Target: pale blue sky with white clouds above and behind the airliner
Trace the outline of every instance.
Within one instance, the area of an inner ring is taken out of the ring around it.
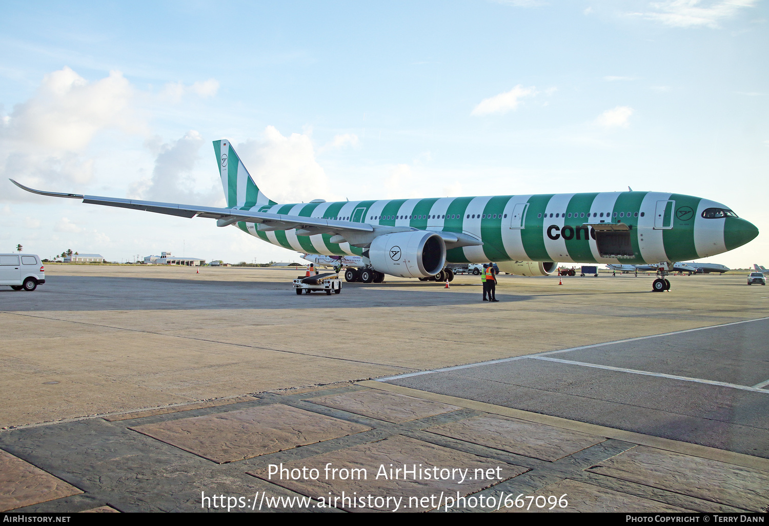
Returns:
[[[278,201],[675,191],[769,229],[765,0],[4,2],[0,171],[221,204],[211,141]],[[295,260],[212,221],[23,195],[0,250]],[[769,263],[766,234],[711,258]]]

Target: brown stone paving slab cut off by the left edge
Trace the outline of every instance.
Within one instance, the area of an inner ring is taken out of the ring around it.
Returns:
[[[0,450],[0,511],[82,493],[81,490]]]

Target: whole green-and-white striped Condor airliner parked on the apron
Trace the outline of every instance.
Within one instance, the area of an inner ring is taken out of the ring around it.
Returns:
[[[226,208],[40,191],[185,218],[216,219],[273,245],[361,256],[361,281],[385,274],[443,281],[449,263],[495,261],[501,271],[549,275],[556,262],[657,264],[653,291],[670,289],[674,261],[705,258],[758,235],[717,201],[657,191],[487,195],[278,204],[248,174],[230,141],[214,141]]]

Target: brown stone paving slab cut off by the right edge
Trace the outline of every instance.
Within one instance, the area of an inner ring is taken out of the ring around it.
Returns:
[[[751,511],[769,507],[769,472],[637,446],[588,469]]]

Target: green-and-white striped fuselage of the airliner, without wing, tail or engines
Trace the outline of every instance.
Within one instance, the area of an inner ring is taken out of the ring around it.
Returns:
[[[657,217],[657,227],[664,228],[655,228],[655,215],[658,216],[656,212],[660,211],[659,201],[673,201],[664,211],[666,217]],[[281,215],[460,232],[483,241],[481,246],[449,248],[447,261],[452,263],[512,260],[631,264],[704,258],[749,241],[741,234],[747,221],[737,217],[704,218],[703,211],[707,208],[727,207],[691,195],[652,191],[241,207]],[[523,221],[514,217],[514,211],[521,210]],[[664,225],[659,221],[663,221]],[[605,249],[603,254],[599,252],[595,231],[584,225],[604,222],[627,225],[630,250],[621,255],[609,254],[610,257],[604,257],[607,255]],[[295,229],[259,231],[255,223],[245,221],[237,225],[268,243],[295,251],[321,255],[364,255],[366,250],[345,242],[331,243],[329,234],[297,235]]]

